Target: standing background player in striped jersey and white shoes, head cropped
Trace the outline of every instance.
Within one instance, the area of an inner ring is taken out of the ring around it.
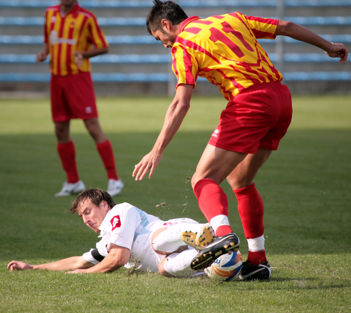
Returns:
[[[91,46],[94,48],[91,49]],[[69,122],[81,118],[107,171],[107,191],[118,195],[123,183],[118,179],[110,141],[101,130],[95,103],[89,58],[108,52],[108,44],[94,14],[83,9],[77,0],[61,0],[45,12],[44,50],[37,63],[50,54],[50,93],[52,119],[55,123],[57,150],[67,181],[55,196],[68,196],[85,189],[79,179],[74,144],[69,136]]]

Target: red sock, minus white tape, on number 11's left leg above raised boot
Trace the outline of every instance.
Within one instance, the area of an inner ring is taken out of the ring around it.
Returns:
[[[228,216],[228,198],[214,180],[200,179],[194,186],[194,193],[200,210],[208,222],[218,215]],[[216,236],[223,236],[230,232],[232,229],[229,225],[221,225],[216,230]]]

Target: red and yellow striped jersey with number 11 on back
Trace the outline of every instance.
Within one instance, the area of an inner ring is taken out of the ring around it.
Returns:
[[[172,47],[173,72],[179,84],[206,77],[228,101],[247,87],[281,81],[258,38],[275,39],[278,20],[239,12],[207,19],[192,16],[180,27]]]

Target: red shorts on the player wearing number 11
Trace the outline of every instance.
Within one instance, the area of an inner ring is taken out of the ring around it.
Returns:
[[[286,85],[269,82],[251,86],[227,104],[208,143],[243,153],[257,153],[258,148],[277,150],[291,116],[291,94]]]

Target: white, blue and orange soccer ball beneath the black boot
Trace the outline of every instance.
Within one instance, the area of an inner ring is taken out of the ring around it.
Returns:
[[[233,251],[231,254],[221,255],[204,271],[213,280],[229,281],[239,276],[242,266],[243,258],[238,250],[238,252]]]

